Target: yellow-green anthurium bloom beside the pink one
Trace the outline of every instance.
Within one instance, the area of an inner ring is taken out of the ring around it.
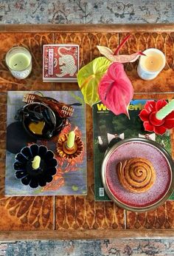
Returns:
[[[98,84],[102,75],[108,70],[111,61],[105,57],[95,58],[77,73],[77,82],[86,104],[92,106],[100,101]]]

